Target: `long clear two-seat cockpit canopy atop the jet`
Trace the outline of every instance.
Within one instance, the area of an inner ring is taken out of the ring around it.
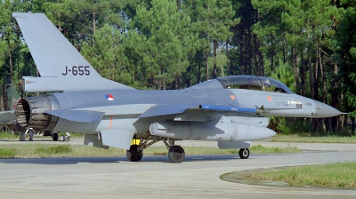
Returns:
[[[294,93],[279,81],[265,76],[224,76],[216,79],[224,89],[248,89],[264,92]]]

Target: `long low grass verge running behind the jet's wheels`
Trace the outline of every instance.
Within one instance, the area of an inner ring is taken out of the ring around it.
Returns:
[[[54,145],[54,144],[9,144],[0,146],[1,150],[12,150],[12,157],[57,157],[57,156],[125,156],[123,149],[109,147],[102,149],[98,147],[77,146],[77,145]],[[184,147],[187,155],[238,155],[237,149],[219,149],[217,147]],[[275,153],[298,153],[301,150],[297,147],[263,147],[261,145],[250,147],[252,154],[275,154]],[[166,147],[149,147],[144,150],[144,155],[167,155]],[[0,156],[1,158],[1,156]],[[3,157],[4,158],[4,157]],[[5,157],[10,158],[10,157]]]

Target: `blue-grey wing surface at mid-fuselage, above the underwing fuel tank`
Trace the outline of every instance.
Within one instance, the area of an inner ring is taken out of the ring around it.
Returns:
[[[150,107],[139,117],[150,117],[150,116],[159,116],[159,115],[174,115],[182,114],[189,108],[194,108],[194,106],[172,106],[172,105],[160,105],[156,107]]]

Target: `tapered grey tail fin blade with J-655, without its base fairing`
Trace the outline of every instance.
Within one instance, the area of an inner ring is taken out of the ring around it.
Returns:
[[[41,76],[100,76],[43,13],[13,12]]]

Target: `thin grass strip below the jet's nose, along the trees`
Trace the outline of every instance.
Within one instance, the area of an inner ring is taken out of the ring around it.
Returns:
[[[339,136],[326,136],[326,137],[304,137],[299,135],[277,135],[271,138],[274,142],[307,142],[307,143],[353,143],[356,144],[356,136],[352,137],[339,137]]]

